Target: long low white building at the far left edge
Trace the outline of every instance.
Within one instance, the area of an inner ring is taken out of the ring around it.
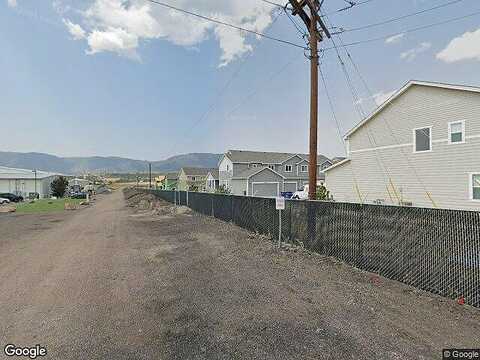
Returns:
[[[50,184],[58,176],[45,171],[0,166],[0,193],[12,193],[27,198],[36,192],[40,198],[46,198],[51,195]]]

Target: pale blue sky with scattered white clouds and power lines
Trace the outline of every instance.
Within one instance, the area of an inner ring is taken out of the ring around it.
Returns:
[[[303,28],[262,0],[164,2],[305,46]],[[371,0],[338,12],[344,0],[324,1],[327,25],[343,32],[321,43],[319,153],[344,155],[341,135],[411,79],[480,86],[477,0],[355,30],[450,2]],[[356,42],[350,61],[341,45]],[[0,151],[144,160],[308,152],[301,47],[146,0],[0,0],[0,49]]]

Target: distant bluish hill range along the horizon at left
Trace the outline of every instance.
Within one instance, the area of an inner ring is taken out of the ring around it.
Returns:
[[[166,160],[152,161],[152,171],[178,171],[181,167],[217,167],[221,154],[194,153],[177,155]],[[58,157],[42,153],[17,153],[0,151],[0,166],[38,169],[63,174],[88,172],[130,173],[146,172],[148,161],[121,157]]]

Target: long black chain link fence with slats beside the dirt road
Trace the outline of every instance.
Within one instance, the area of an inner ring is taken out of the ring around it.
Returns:
[[[149,190],[278,239],[275,199]],[[480,307],[480,212],[287,200],[285,242]]]

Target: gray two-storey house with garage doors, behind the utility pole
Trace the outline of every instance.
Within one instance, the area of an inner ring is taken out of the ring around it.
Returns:
[[[308,184],[308,164],[307,154],[229,150],[219,162],[219,184],[233,195],[278,196]],[[333,162],[318,155],[317,164],[322,183],[323,170]]]

